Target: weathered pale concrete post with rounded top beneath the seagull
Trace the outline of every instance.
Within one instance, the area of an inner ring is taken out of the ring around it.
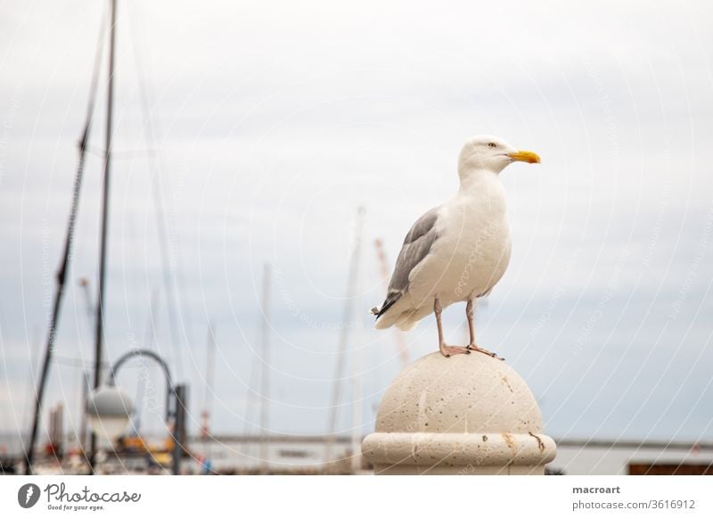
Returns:
[[[362,445],[375,474],[544,474],[555,449],[512,367],[481,353],[438,352],[391,383]]]

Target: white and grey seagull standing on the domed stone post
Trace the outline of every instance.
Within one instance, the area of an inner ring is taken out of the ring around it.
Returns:
[[[500,358],[475,343],[473,301],[493,290],[510,261],[510,226],[500,172],[516,161],[532,164],[540,158],[496,136],[466,141],[458,159],[458,193],[423,214],[408,231],[386,300],[371,310],[375,328],[396,325],[408,331],[433,312],[441,355],[479,351]],[[465,347],[449,346],[443,338],[441,313],[456,302],[466,303],[471,340]]]

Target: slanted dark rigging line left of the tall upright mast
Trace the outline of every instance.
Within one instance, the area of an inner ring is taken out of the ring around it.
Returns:
[[[70,205],[70,217],[67,222],[67,234],[64,240],[64,250],[60,260],[60,268],[56,275],[56,292],[54,294],[54,305],[52,317],[49,322],[47,333],[47,342],[45,348],[45,358],[42,362],[39,381],[37,383],[37,392],[35,393],[35,415],[30,430],[29,444],[24,446],[25,451],[25,474],[32,474],[33,448],[37,441],[37,429],[39,426],[40,415],[42,412],[42,400],[45,396],[45,385],[47,375],[49,375],[49,367],[52,361],[54,350],[54,342],[57,335],[57,322],[60,317],[61,302],[64,295],[64,286],[67,280],[67,272],[70,269],[72,243],[74,242],[74,232],[77,223],[77,214],[79,210],[79,195],[81,194],[82,178],[84,177],[84,167],[86,163],[86,150],[88,147],[89,134],[92,128],[92,120],[94,119],[94,106],[96,104],[96,95],[99,85],[99,70],[102,65],[102,51],[104,47],[104,39],[106,37],[106,12],[102,19],[102,24],[99,30],[99,41],[94,55],[94,70],[92,80],[89,86],[89,100],[86,106],[86,119],[82,136],[78,142],[79,158],[77,171],[74,177],[74,185],[72,186],[72,199]]]

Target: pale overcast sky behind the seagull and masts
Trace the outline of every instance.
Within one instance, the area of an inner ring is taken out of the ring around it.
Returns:
[[[5,431],[29,426],[107,4],[0,4]],[[324,433],[363,205],[358,312],[349,317],[363,420],[351,422],[345,381],[340,432],[372,430],[400,369],[393,335],[374,331],[367,315],[384,293],[373,240],[393,262],[414,218],[457,189],[463,141],[495,134],[542,164],[503,173],[512,262],[479,309],[480,344],[526,378],[552,436],[710,441],[712,17],[708,2],[119,0],[105,357],[137,344],[159,350],[190,384],[197,431],[211,320],[212,428],[257,431],[258,392],[249,390],[259,389],[269,262],[270,430]],[[68,406],[68,427],[78,420],[77,365],[93,358],[78,279],[90,280],[94,298],[103,87],[45,400]],[[461,306],[446,311],[456,342]],[[424,319],[406,334],[411,358],[436,339]],[[160,373],[151,368],[142,385],[139,364],[130,366],[119,384],[133,397],[158,394],[141,415],[146,430],[160,430]]]

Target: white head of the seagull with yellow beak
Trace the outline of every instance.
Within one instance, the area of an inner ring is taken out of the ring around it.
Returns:
[[[474,136],[463,144],[458,170],[463,174],[473,169],[485,169],[500,173],[512,162],[539,163],[537,153],[523,152],[513,148],[496,136]]]

